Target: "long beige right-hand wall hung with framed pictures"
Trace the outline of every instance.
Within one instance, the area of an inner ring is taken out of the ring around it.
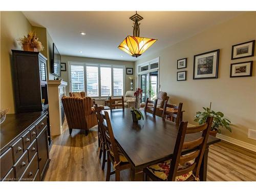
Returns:
[[[232,45],[253,39],[256,39],[256,12],[242,14],[140,59],[135,66],[160,57],[161,90],[168,93],[170,103],[183,102],[184,120],[195,124],[196,112],[211,101],[212,110],[223,112],[232,122],[232,133],[222,129],[223,135],[256,145],[256,140],[247,138],[248,129],[256,130],[256,57],[230,59]],[[193,80],[194,55],[216,49],[220,49],[218,79]],[[177,70],[177,59],[185,57],[187,68]],[[252,77],[229,77],[230,63],[250,60],[254,61]],[[183,70],[187,71],[187,80],[177,81],[177,71]]]

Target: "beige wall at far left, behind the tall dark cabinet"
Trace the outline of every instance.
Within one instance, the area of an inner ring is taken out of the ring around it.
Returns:
[[[22,12],[1,12],[1,109],[15,112],[12,82],[12,49],[19,49],[16,40],[27,35],[32,26]]]

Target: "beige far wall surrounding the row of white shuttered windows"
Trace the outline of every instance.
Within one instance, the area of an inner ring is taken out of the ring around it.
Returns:
[[[123,65],[123,66],[125,66],[125,72],[124,72],[124,74],[125,74],[125,90],[129,91],[131,88],[130,87],[131,80],[129,79],[129,76],[133,76],[133,75],[126,75],[126,68],[134,68],[133,61],[121,61],[121,60],[109,60],[109,59],[97,59],[97,58],[73,57],[73,56],[61,55],[61,62],[66,62],[67,71],[61,71],[60,78],[63,78],[63,80],[68,82],[68,87],[66,89],[67,94],[69,93],[68,61]]]

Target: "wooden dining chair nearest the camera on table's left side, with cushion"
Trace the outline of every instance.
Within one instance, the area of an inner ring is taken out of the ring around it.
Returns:
[[[107,170],[106,170],[106,181],[110,181],[110,176],[115,174],[116,181],[120,181],[120,171],[124,169],[131,168],[129,161],[121,152],[120,148],[117,146],[115,137],[112,130],[112,125],[110,122],[109,113],[104,111],[104,114],[100,112],[101,115],[101,127],[104,133],[106,151],[107,151]],[[111,163],[113,164],[115,170],[111,172]]]

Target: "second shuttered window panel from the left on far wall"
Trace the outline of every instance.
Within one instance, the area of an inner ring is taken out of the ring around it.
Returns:
[[[98,67],[86,66],[87,96],[99,96]]]

